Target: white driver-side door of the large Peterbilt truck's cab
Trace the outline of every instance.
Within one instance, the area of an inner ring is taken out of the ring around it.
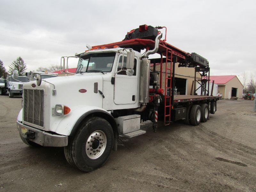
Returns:
[[[118,59],[118,67],[116,71],[119,71],[122,67],[121,55]],[[115,75],[114,85],[114,103],[115,104],[134,104],[138,100],[138,58],[134,58],[134,74],[132,76],[126,75],[126,71],[121,71]],[[124,66],[126,66],[126,56],[124,56]]]

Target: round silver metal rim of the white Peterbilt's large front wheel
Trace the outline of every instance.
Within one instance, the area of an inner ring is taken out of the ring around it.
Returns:
[[[105,151],[107,146],[107,137],[106,134],[102,131],[93,132],[87,139],[85,150],[86,155],[90,159],[99,158]]]

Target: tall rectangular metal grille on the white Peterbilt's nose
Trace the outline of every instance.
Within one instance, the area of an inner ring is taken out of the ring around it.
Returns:
[[[25,122],[44,127],[44,90],[23,90],[23,119]]]

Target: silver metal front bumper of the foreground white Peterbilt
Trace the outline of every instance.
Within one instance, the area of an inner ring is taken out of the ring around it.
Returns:
[[[68,145],[68,136],[65,135],[55,135],[44,132],[34,127],[25,125],[20,121],[17,121],[17,129],[23,138],[29,139],[45,147],[65,147]],[[26,130],[26,133],[29,134],[25,134],[25,132],[22,132],[21,130]],[[33,137],[31,137],[30,133],[33,134]]]

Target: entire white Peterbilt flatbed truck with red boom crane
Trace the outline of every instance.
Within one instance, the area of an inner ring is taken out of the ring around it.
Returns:
[[[219,100],[206,89],[209,63],[168,44],[166,28],[161,40],[158,29],[162,28],[142,25],[123,41],[86,45],[87,51],[71,56],[78,58],[74,76],[42,80],[39,74],[36,82],[24,84],[23,108],[17,118],[24,143],[64,147],[68,163],[89,172],[117,150],[119,137],[144,134],[141,121],[152,121],[154,132],[158,121],[164,125],[179,119],[192,125],[206,122]],[[143,49],[146,52],[141,54]],[[148,59],[154,53],[160,55],[160,63]],[[66,74],[68,58],[61,58]],[[200,72],[201,81],[195,78],[194,87],[200,83],[201,95],[196,90],[191,95],[172,94],[176,62]]]

